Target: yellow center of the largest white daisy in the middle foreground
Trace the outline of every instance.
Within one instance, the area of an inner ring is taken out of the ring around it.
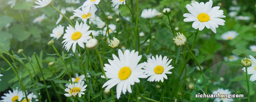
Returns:
[[[119,79],[121,80],[125,80],[127,79],[128,77],[130,77],[131,75],[131,69],[129,67],[123,67],[122,69],[119,70],[118,72],[118,77]]]

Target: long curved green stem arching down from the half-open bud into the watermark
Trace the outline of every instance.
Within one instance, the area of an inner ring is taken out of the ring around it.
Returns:
[[[196,60],[196,57],[193,55],[193,53],[191,52],[191,50],[188,48],[187,45],[185,45],[185,47],[188,49],[188,52],[190,53],[190,55],[194,58],[197,66],[199,67],[200,71],[201,71],[201,74],[202,74],[202,77],[203,77],[203,80],[204,80],[204,92],[205,94],[207,94],[207,84],[206,84],[206,79],[205,79],[205,76],[204,76],[204,72],[203,72],[203,69],[201,68],[201,65],[200,63]],[[207,98],[205,98],[204,100],[205,102],[207,101]]]

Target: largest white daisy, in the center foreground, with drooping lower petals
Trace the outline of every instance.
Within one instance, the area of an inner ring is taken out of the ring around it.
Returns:
[[[106,87],[106,90],[111,89],[113,86],[116,86],[116,97],[120,98],[121,92],[125,94],[126,91],[132,93],[131,85],[135,83],[139,83],[139,78],[147,78],[145,74],[143,74],[144,63],[139,63],[141,59],[141,55],[138,55],[139,52],[135,52],[132,50],[125,50],[124,54],[119,49],[118,56],[112,55],[114,60],[108,59],[109,64],[105,64],[104,70],[106,71],[106,76],[110,79],[105,84],[103,84],[102,88]],[[104,76],[101,76],[105,78]]]

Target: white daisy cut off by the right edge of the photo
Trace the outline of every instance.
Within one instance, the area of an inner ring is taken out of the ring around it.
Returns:
[[[253,82],[256,80],[256,59],[251,55],[249,55],[249,57],[251,58],[252,65],[251,67],[247,68],[247,72],[248,74],[252,74],[252,76],[250,77],[250,81]],[[244,70],[245,72],[245,67],[242,70]]]

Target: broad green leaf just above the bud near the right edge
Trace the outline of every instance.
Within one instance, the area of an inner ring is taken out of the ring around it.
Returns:
[[[246,55],[246,56],[249,56],[249,55],[252,55],[252,56],[256,56],[256,53],[254,51],[251,51],[251,50],[248,50],[246,48],[236,48],[232,51],[233,54],[235,55]]]

